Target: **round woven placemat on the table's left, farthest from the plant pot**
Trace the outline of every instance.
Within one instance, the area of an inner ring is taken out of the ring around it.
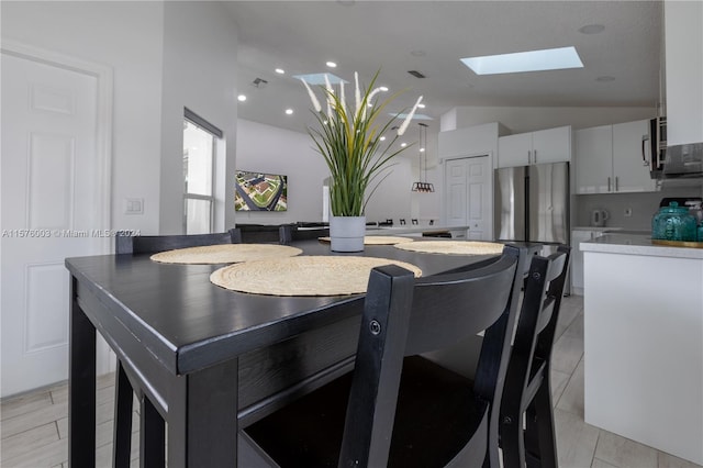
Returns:
[[[152,260],[163,264],[235,264],[294,257],[302,252],[300,248],[277,244],[220,244],[160,252],[152,255]]]

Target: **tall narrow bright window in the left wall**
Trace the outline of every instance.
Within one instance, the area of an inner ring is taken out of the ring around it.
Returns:
[[[212,232],[217,138],[222,138],[222,132],[217,127],[186,109],[183,120],[183,231],[186,234]]]

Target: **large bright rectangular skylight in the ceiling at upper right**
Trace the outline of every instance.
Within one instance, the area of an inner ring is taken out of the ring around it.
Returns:
[[[574,47],[546,48],[514,54],[467,57],[461,62],[477,75],[515,74],[523,71],[583,68]]]

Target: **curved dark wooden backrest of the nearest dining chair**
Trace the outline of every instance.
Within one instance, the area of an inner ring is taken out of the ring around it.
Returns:
[[[514,315],[517,259],[506,247],[480,268],[417,280],[397,266],[371,271],[339,466],[387,464],[404,356],[495,326],[511,309]]]

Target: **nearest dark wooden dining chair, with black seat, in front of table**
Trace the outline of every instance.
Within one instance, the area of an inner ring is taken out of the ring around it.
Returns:
[[[416,280],[397,266],[373,269],[354,370],[243,438],[271,466],[498,467],[490,410],[506,368],[518,253],[509,246],[478,268]],[[479,331],[487,338],[475,381],[420,356]]]

